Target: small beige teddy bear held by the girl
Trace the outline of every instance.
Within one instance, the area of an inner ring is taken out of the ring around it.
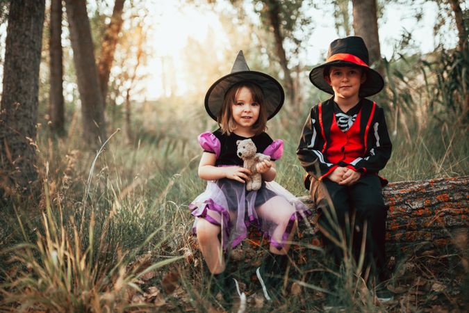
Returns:
[[[236,145],[238,146],[236,154],[244,161],[243,167],[252,172],[251,179],[246,184],[246,190],[252,191],[260,189],[262,177],[256,170],[256,164],[263,160],[270,160],[270,157],[262,153],[256,153],[256,145],[254,145],[251,139],[236,141]]]

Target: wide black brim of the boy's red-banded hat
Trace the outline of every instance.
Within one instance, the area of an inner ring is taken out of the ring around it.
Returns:
[[[384,88],[384,79],[381,77],[379,72],[373,70],[370,67],[357,65],[356,63],[336,60],[314,67],[313,70],[311,70],[309,73],[309,80],[311,83],[313,83],[313,85],[318,87],[320,90],[331,95],[334,95],[334,90],[332,90],[331,85],[329,85],[329,83],[327,83],[327,81],[324,79],[324,68],[328,66],[358,66],[363,68],[366,73],[366,80],[360,86],[360,97],[370,97],[372,95],[376,95]]]

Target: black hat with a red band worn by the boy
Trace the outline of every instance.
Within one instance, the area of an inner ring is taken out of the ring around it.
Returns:
[[[330,66],[359,66],[366,73],[366,81],[360,86],[360,97],[375,95],[383,89],[384,79],[368,65],[368,59],[368,49],[361,37],[336,39],[329,45],[326,63],[314,67],[309,73],[309,80],[320,90],[334,95],[334,90],[324,79],[324,69]]]

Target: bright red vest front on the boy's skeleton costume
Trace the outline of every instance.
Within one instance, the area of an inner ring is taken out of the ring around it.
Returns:
[[[344,161],[349,164],[356,158],[363,157],[365,145],[360,138],[360,118],[361,110],[356,115],[356,119],[349,130],[343,132],[337,125],[336,116],[332,115],[331,143],[324,155],[334,164]]]

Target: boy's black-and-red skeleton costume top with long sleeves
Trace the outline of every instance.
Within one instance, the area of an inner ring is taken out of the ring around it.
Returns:
[[[311,109],[297,150],[303,168],[318,180],[327,177],[338,166],[377,175],[386,166],[392,148],[383,109],[375,102],[361,99],[352,108],[358,109],[357,113],[345,118],[345,113],[334,114],[335,106],[337,104],[331,98]],[[358,140],[347,142],[347,136],[336,136],[334,125],[345,134],[355,126]],[[331,156],[335,162],[329,159]],[[386,179],[381,177],[381,185],[386,184]]]

